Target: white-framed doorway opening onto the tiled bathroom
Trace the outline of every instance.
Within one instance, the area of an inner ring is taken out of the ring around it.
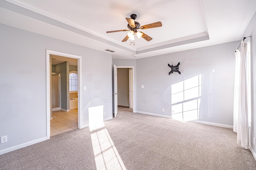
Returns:
[[[81,57],[46,50],[47,69],[47,139],[59,133],[81,129],[80,100]],[[70,72],[76,72],[75,87],[70,91]],[[75,90],[74,90],[75,88]],[[71,96],[71,98],[70,98]],[[75,97],[74,97],[75,96]],[[70,108],[70,102],[76,106]]]

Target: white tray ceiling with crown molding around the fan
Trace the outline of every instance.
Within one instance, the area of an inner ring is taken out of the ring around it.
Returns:
[[[99,51],[139,59],[237,41],[256,12],[256,0],[0,0],[0,23]],[[151,41],[121,42],[131,14]],[[104,51],[106,52],[106,51]],[[106,52],[110,53],[110,52]],[[132,56],[137,54],[136,57]]]

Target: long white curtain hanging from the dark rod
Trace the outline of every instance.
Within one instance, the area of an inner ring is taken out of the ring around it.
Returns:
[[[241,42],[241,53],[236,50],[236,67],[234,83],[234,132],[237,133],[237,143],[248,149],[249,127],[247,107],[247,84],[246,84],[246,53],[247,46]]]

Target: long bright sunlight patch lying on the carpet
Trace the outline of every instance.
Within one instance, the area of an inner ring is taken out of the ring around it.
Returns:
[[[91,140],[97,170],[126,170],[107,129],[92,133]]]

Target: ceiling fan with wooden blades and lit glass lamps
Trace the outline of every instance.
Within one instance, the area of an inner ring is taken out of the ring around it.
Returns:
[[[145,33],[141,31],[137,31],[137,29],[149,29],[149,28],[155,28],[155,27],[162,27],[162,23],[160,21],[155,22],[155,23],[150,23],[147,25],[142,25],[140,26],[140,23],[137,21],[134,21],[137,18],[136,14],[132,14],[131,18],[125,18],[128,22],[128,29],[121,29],[121,30],[116,30],[116,31],[107,31],[106,33],[114,33],[114,32],[120,32],[120,31],[129,31],[122,40],[122,42],[127,41],[128,39],[134,40],[135,39],[135,34],[137,35],[138,38],[142,37],[146,41],[151,41],[152,38]]]

